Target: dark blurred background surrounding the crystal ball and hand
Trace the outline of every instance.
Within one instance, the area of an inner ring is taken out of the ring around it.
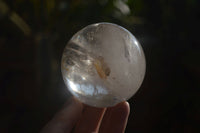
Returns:
[[[112,22],[147,61],[127,133],[200,132],[199,0],[0,0],[0,132],[36,133],[70,97],[60,71],[74,33]]]

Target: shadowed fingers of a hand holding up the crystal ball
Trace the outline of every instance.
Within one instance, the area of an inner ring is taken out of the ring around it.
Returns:
[[[71,98],[41,133],[123,133],[129,112],[126,101],[114,107],[95,108]]]

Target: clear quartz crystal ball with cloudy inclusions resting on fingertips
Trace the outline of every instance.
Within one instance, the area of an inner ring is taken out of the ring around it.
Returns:
[[[137,39],[112,23],[89,25],[66,45],[61,70],[69,91],[95,107],[114,106],[133,96],[145,75]]]

